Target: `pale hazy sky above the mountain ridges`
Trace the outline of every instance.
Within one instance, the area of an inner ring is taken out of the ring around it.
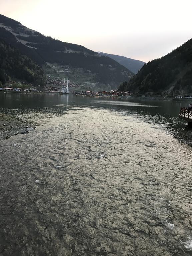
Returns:
[[[91,50],[142,61],[192,38],[191,0],[0,0],[0,13]]]

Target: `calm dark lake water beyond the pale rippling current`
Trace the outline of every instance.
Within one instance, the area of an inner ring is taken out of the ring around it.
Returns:
[[[0,93],[0,111],[9,114],[28,114],[31,112],[50,113],[55,116],[66,113],[72,106],[108,108],[122,112],[124,115],[132,115],[145,122],[156,123],[168,132],[177,132],[184,128],[186,122],[178,118],[180,107],[188,105],[188,102],[154,101],[140,99],[117,99],[80,97],[64,94],[22,94]],[[43,118],[44,116],[42,116]]]

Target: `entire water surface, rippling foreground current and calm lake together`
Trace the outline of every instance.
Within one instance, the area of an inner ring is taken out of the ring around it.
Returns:
[[[183,105],[0,94],[41,124],[0,143],[0,255],[192,255]]]

